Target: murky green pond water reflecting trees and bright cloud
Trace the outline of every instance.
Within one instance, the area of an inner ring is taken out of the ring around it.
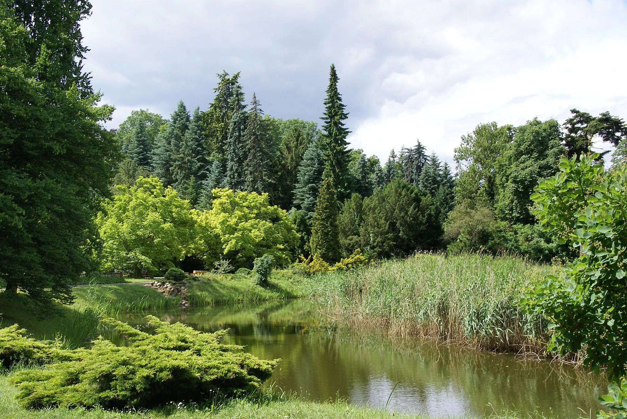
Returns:
[[[346,398],[403,413],[482,416],[503,410],[588,417],[607,382],[570,366],[477,352],[435,340],[349,331],[303,300],[149,313],[201,331],[228,328],[223,343],[281,358],[270,382],[311,400]],[[122,314],[130,324],[145,314]]]

